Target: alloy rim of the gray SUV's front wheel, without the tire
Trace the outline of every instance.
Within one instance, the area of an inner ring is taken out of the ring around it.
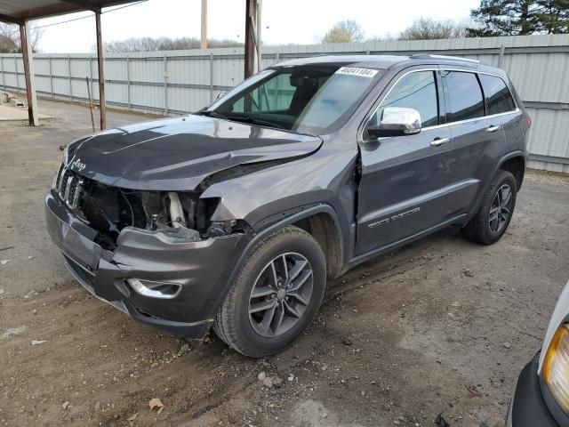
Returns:
[[[302,318],[312,296],[314,275],[301,254],[279,254],[255,280],[249,296],[249,322],[264,337],[290,330]]]

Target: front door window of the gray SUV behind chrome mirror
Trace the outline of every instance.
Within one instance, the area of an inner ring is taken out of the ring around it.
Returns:
[[[386,107],[416,109],[421,115],[421,126],[438,125],[437,84],[433,71],[416,71],[397,82],[372,118],[374,124],[381,122]]]

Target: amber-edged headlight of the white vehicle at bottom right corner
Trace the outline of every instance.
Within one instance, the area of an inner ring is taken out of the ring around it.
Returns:
[[[545,353],[543,382],[565,414],[569,414],[569,326],[559,326]]]

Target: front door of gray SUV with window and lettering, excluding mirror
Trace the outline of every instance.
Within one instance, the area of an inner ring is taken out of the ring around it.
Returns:
[[[362,176],[357,199],[356,255],[395,244],[445,222],[450,211],[451,133],[441,125],[442,88],[436,70],[400,77],[370,120],[386,107],[416,109],[421,133],[362,142]],[[440,100],[440,101],[439,101]]]

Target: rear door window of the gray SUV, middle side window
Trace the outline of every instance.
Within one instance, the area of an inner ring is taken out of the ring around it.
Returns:
[[[484,101],[476,74],[443,71],[448,89],[446,121],[448,123],[484,117]]]

